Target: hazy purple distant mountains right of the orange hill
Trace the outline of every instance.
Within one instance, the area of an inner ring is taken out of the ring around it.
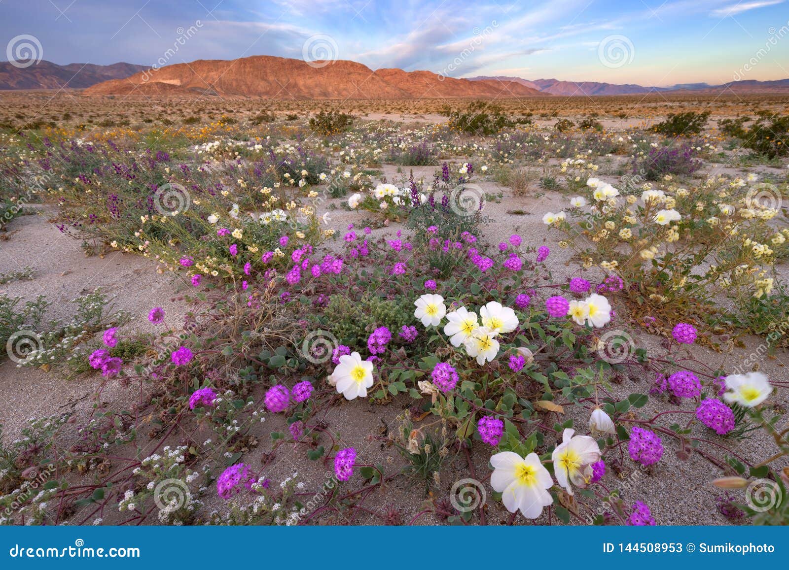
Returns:
[[[734,91],[738,93],[789,93],[789,79],[775,81],[732,81],[721,85],[706,83],[677,84],[671,87],[644,87],[635,84],[611,84],[597,81],[560,81],[558,79],[526,80],[521,77],[508,76],[477,76],[472,81],[513,81],[542,93],[571,97],[574,95],[630,95],[634,93],[651,93],[655,91],[697,91],[699,93],[720,93]]]

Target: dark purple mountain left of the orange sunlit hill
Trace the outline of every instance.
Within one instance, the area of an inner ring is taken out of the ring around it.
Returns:
[[[131,63],[58,65],[46,60],[38,63],[22,60],[19,63],[31,65],[22,68],[9,61],[0,61],[0,89],[81,89],[110,79],[123,79],[148,69],[147,65]]]

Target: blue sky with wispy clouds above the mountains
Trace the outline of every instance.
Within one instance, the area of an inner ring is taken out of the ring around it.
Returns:
[[[789,0],[0,0],[0,58],[19,35],[59,64],[328,54],[449,76],[789,78]]]

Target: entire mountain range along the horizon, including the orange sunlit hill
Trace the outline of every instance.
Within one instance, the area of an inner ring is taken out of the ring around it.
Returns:
[[[22,64],[29,63],[26,61]],[[695,93],[787,93],[789,79],[734,81],[721,85],[644,87],[597,81],[526,80],[512,76],[455,79],[429,71],[376,69],[355,61],[302,61],[257,55],[234,60],[198,60],[149,69],[115,63],[24,67],[0,61],[2,89],[85,89],[85,95],[241,96],[266,99],[418,99],[630,95],[654,91]]]

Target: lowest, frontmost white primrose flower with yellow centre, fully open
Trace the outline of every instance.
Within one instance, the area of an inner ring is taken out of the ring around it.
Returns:
[[[503,451],[491,457],[491,465],[491,486],[502,494],[501,501],[509,512],[520,509],[527,519],[536,519],[543,507],[553,503],[548,493],[553,479],[537,453],[529,453],[524,458],[518,453]]]

